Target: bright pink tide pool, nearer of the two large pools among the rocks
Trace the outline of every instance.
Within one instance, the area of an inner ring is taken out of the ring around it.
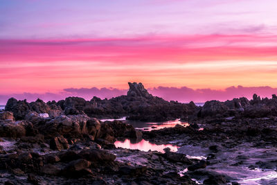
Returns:
[[[135,141],[130,141],[129,139],[125,139],[125,141],[116,141],[114,143],[114,145],[116,147],[120,147],[120,148],[127,148],[127,149],[138,149],[138,150],[143,150],[145,152],[148,152],[149,150],[156,150],[158,152],[163,152],[164,148],[170,148],[170,151],[172,152],[177,152],[178,147],[177,146],[172,146],[170,144],[168,145],[157,145],[154,143],[150,143],[149,141],[145,141],[144,139],[142,139],[139,142],[135,142]]]

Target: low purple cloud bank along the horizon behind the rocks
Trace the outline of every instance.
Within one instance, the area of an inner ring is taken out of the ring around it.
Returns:
[[[240,98],[242,96],[251,99],[253,94],[258,94],[259,96],[265,98],[271,98],[272,94],[277,94],[277,88],[265,86],[265,87],[227,87],[223,90],[215,89],[191,89],[189,87],[154,87],[148,89],[150,94],[154,96],[159,96],[165,100],[178,100],[182,103],[188,103],[193,100],[195,103],[203,103],[207,100],[231,100],[233,98]],[[117,89],[117,88],[68,88],[64,89],[60,93],[45,93],[45,94],[3,94],[0,95],[0,104],[5,105],[8,98],[14,97],[18,100],[27,99],[28,101],[34,101],[40,98],[44,101],[48,100],[62,100],[68,96],[78,96],[86,100],[90,100],[93,96],[99,98],[112,98],[116,96],[121,96],[127,94],[127,89]]]

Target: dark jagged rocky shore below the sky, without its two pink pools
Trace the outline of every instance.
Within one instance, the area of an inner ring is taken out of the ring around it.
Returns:
[[[277,182],[275,95],[213,100],[197,107],[154,97],[141,84],[129,87],[127,96],[110,100],[69,97],[57,103],[27,103],[10,98],[0,112],[0,182],[253,183],[246,173],[260,177],[270,173],[262,184]],[[141,121],[182,118],[190,125],[141,132],[122,121],[98,119],[119,116]],[[180,148],[178,152],[116,148],[114,142],[122,139],[174,143]]]

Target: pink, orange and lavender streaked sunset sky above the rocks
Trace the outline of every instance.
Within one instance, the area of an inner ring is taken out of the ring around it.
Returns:
[[[276,94],[276,7],[276,0],[1,0],[0,103],[112,97],[125,94],[127,82],[181,101],[226,100],[229,88],[240,89],[233,96]],[[100,93],[66,91],[93,88]]]

